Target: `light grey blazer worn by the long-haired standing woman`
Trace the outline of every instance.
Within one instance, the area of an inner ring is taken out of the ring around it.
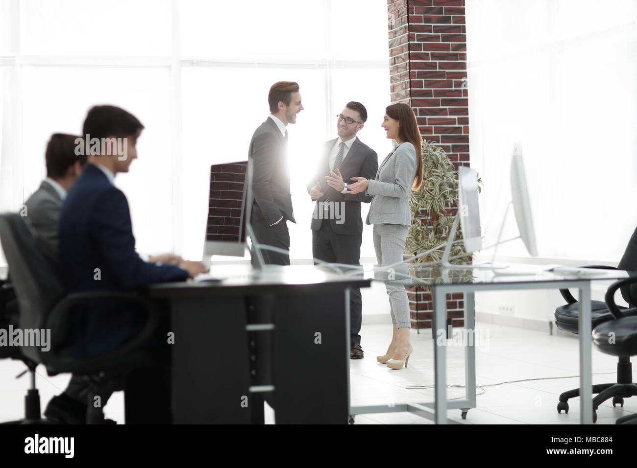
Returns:
[[[409,195],[416,177],[416,150],[403,141],[378,167],[375,180],[369,181],[367,195],[373,195],[366,223],[412,225]]]

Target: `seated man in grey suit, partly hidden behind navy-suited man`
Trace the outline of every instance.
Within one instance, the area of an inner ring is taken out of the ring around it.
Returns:
[[[62,201],[82,173],[86,155],[75,154],[75,135],[56,133],[48,141],[47,178],[25,203],[25,215],[38,233],[42,252],[57,266],[57,223]],[[82,152],[83,153],[83,152]]]

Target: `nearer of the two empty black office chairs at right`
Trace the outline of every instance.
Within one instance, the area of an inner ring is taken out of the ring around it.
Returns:
[[[606,305],[613,315],[613,319],[601,323],[593,329],[592,333],[593,343],[599,351],[618,356],[620,361],[623,358],[627,362],[630,362],[630,356],[637,355],[637,316],[627,316],[626,310],[620,309],[615,304],[615,291],[619,288],[631,287],[634,283],[637,283],[637,274],[634,278],[617,281],[608,288]],[[619,364],[617,364],[617,368],[619,374]],[[632,375],[626,376],[623,382],[618,381],[615,385],[606,388],[598,397],[603,397],[606,394],[624,397],[637,395],[637,385],[631,381]],[[593,422],[597,420],[596,409],[601,403],[601,401],[596,401],[598,397],[593,399]],[[623,416],[617,420],[617,424],[637,424],[637,415]]]

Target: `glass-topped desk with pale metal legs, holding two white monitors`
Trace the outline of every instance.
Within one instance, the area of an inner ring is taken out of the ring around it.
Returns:
[[[441,269],[439,272],[423,274],[432,288],[433,295],[433,328],[436,331],[434,339],[434,402],[418,402],[413,404],[396,404],[393,408],[387,406],[354,406],[350,407],[350,415],[363,413],[385,413],[389,411],[409,411],[437,424],[453,422],[447,419],[447,409],[461,409],[462,418],[467,411],[476,408],[476,371],[475,371],[475,341],[465,345],[464,375],[465,399],[447,401],[447,294],[462,292],[464,294],[464,325],[463,329],[475,330],[475,301],[476,291],[494,290],[524,290],[524,289],[563,289],[576,288],[580,291],[580,422],[592,423],[592,371],[590,363],[591,350],[591,316],[590,316],[590,281],[618,280],[627,278],[626,271],[595,270],[589,271],[587,277],[575,274],[554,274],[542,269],[520,269],[511,266],[499,273],[488,270],[469,268],[473,278],[459,281],[453,278],[454,271]],[[404,280],[403,280],[404,282]],[[407,282],[408,285],[412,281]],[[557,404],[557,402],[556,402]]]

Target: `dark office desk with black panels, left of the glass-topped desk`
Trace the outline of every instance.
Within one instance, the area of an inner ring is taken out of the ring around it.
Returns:
[[[261,395],[273,390],[276,423],[347,423],[347,288],[369,285],[325,267],[241,266],[220,283],[148,287],[150,297],[170,303],[174,422],[262,422]],[[273,306],[272,323],[250,323],[263,297]],[[254,379],[255,333],[273,337],[269,385]]]

